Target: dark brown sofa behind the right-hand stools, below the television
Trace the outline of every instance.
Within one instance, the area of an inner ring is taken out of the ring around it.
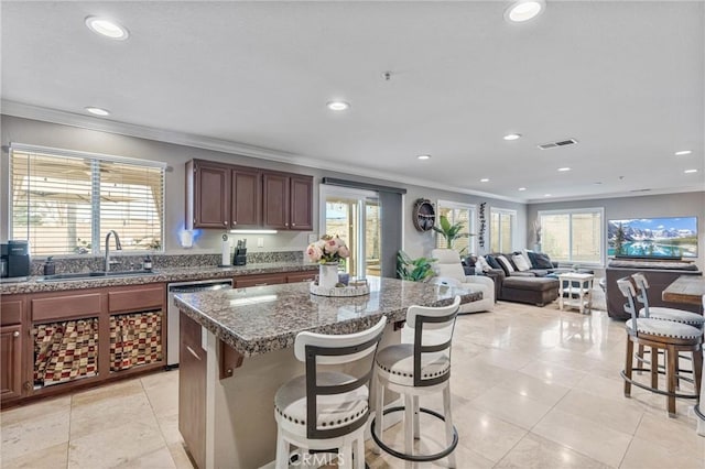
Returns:
[[[629,314],[625,313],[626,299],[617,286],[617,280],[637,272],[643,273],[649,282],[649,306],[665,306],[693,313],[703,312],[698,305],[669,303],[661,299],[663,290],[679,276],[703,274],[695,264],[690,262],[616,259],[607,264],[605,271],[605,299],[607,302],[607,314],[610,317],[615,319],[630,318]]]

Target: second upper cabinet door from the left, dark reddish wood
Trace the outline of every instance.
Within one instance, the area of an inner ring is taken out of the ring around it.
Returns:
[[[236,168],[232,170],[230,181],[230,228],[259,228],[262,225],[262,173]]]

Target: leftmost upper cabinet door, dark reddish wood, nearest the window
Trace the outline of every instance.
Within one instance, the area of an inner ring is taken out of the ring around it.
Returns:
[[[194,170],[193,204],[194,227],[227,228],[230,215],[230,170],[197,163]]]

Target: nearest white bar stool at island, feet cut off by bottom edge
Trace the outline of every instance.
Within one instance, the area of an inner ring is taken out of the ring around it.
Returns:
[[[382,317],[361,332],[296,336],[294,355],[305,363],[306,374],[283,384],[274,396],[276,469],[289,467],[290,445],[314,452],[337,450],[338,467],[355,462],[356,468],[365,468],[369,385],[386,324],[387,317]],[[343,364],[345,372],[338,371]],[[308,465],[305,459],[296,465],[302,462]],[[314,462],[321,466],[325,461]]]

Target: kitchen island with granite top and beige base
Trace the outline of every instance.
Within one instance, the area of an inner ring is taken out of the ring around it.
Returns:
[[[400,341],[411,305],[443,306],[456,295],[463,303],[481,298],[465,287],[394,279],[369,279],[369,284],[368,295],[354,297],[312,295],[306,283],[176,296],[187,325],[181,340],[180,430],[200,468],[256,468],[274,459],[274,393],[304,373],[293,353],[299,332],[356,332],[383,315],[383,347]]]

